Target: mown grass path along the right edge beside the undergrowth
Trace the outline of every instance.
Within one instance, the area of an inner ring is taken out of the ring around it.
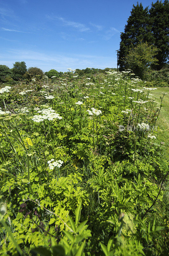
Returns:
[[[160,97],[163,97],[162,92],[166,92],[168,94],[166,94],[163,98],[163,107],[161,108],[156,123],[159,129],[162,130],[158,132],[157,141],[158,143],[161,141],[165,142],[165,149],[167,152],[169,152],[169,87],[158,87],[158,90],[154,90],[152,94],[158,97],[155,101],[158,103],[158,106],[160,106]]]

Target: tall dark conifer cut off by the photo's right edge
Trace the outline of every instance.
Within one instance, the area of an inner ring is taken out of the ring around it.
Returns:
[[[150,20],[152,29],[151,32],[155,38],[155,46],[158,48],[157,64],[153,65],[154,69],[161,69],[166,61],[169,59],[169,2],[165,0],[164,3],[157,1],[151,4]]]

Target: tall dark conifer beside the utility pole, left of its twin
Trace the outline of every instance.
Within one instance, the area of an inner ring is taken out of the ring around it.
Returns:
[[[125,68],[124,58],[128,54],[130,48],[134,48],[140,42],[153,44],[154,38],[151,33],[148,7],[144,9],[143,5],[138,4],[137,2],[136,6],[133,4],[131,15],[127,20],[127,25],[125,25],[124,32],[121,33],[118,61],[120,70]]]

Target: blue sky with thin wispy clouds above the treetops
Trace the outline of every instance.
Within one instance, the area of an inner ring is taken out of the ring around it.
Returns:
[[[138,1],[140,3],[140,1]],[[152,0],[141,1],[151,7]],[[156,1],[153,1],[156,2]],[[0,64],[115,68],[120,32],[137,0],[0,0]]]

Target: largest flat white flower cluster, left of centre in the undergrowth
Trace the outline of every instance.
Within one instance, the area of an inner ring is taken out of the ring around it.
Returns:
[[[39,110],[38,113],[41,113],[42,115],[34,115],[32,117],[32,120],[37,123],[43,122],[45,119],[48,119],[49,121],[52,121],[54,118],[59,120],[62,119],[62,117],[59,116],[59,114],[56,114],[55,110],[52,108]]]

